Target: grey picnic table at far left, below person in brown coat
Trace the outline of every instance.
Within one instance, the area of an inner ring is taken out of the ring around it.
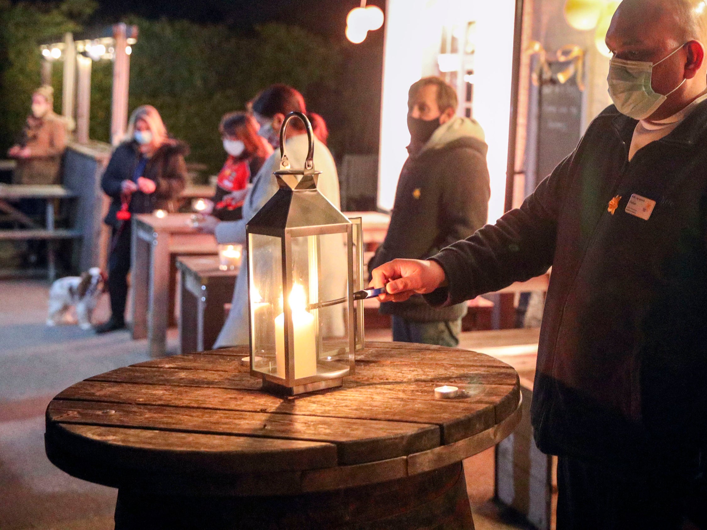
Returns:
[[[0,230],[0,240],[46,240],[47,241],[47,276],[54,281],[57,276],[56,257],[54,255],[55,240],[71,240],[81,237],[80,230],[55,228],[54,201],[57,199],[73,199],[74,192],[58,184],[0,184],[0,211],[24,228]],[[15,208],[11,203],[21,199],[42,199],[47,201],[46,220],[42,226],[29,216]]]

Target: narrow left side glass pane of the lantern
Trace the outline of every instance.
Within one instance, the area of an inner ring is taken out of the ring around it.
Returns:
[[[258,372],[278,375],[275,317],[282,312],[282,240],[249,234],[248,245],[251,365]]]

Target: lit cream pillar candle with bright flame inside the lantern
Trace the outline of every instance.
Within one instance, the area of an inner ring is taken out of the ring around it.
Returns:
[[[295,356],[295,379],[317,375],[317,347],[315,319],[307,311],[307,296],[302,285],[295,284],[288,297],[292,314],[294,343],[291,353]],[[285,314],[275,317],[275,361],[278,377],[285,377]]]

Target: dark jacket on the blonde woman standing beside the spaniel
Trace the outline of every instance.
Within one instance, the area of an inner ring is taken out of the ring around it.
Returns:
[[[130,197],[128,210],[131,213],[151,213],[161,208],[176,211],[177,199],[185,188],[187,165],[184,157],[189,153],[186,143],[169,139],[147,161],[142,174],[156,184],[155,192],[144,194],[139,190]],[[124,180],[132,180],[140,158],[136,141],[121,143],[110,157],[108,167],[103,172],[100,184],[103,192],[110,196],[112,202],[105,217],[105,223],[112,227],[119,226],[120,221],[115,213],[120,209]]]

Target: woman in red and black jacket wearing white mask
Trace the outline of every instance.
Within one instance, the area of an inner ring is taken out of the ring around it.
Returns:
[[[220,220],[239,220],[247,185],[272,154],[272,147],[262,136],[255,118],[245,112],[230,112],[221,118],[218,131],[223,149],[228,153],[226,163],[218,173],[214,204],[223,201],[224,207],[214,211]]]

